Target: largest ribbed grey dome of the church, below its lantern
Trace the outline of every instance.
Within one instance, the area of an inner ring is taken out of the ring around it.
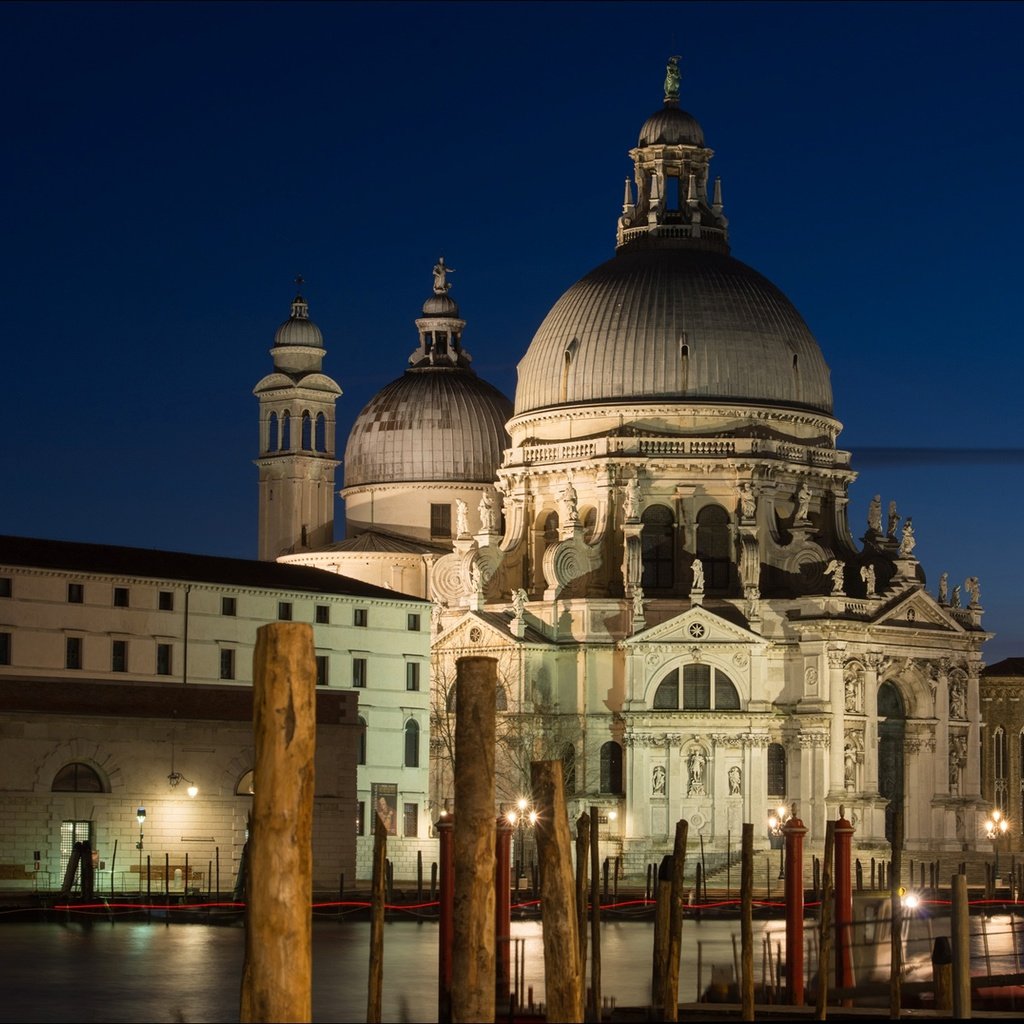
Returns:
[[[650,239],[555,303],[519,364],[515,412],[663,399],[833,408],[821,350],[771,282],[724,253]]]

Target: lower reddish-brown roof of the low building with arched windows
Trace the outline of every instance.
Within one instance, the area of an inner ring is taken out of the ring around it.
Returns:
[[[175,718],[179,721],[251,722],[251,686],[204,686],[126,680],[0,679],[0,711],[32,715],[100,715]],[[350,690],[316,690],[321,725],[355,723],[358,696]]]

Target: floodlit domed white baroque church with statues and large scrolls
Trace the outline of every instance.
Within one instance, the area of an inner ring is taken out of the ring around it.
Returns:
[[[828,368],[731,255],[675,63],[630,156],[615,253],[540,326],[511,411],[469,369],[441,262],[410,368],[349,437],[346,540],[285,557],[433,601],[435,813],[456,665],[482,655],[499,800],[561,759],[570,814],[599,807],[627,870],[680,817],[712,850],[745,821],[767,846],[794,804],[811,840],[842,806],[883,850],[902,809],[909,850],[974,849],[978,582],[930,592],[894,502],[851,515]]]

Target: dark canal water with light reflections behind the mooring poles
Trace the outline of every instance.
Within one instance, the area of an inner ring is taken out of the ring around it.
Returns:
[[[1020,970],[1019,925],[1019,918],[972,918],[973,973]],[[810,966],[817,956],[813,923],[807,926]],[[771,977],[769,956],[784,949],[784,923],[756,921],[754,929],[760,982]],[[888,936],[872,937],[866,926],[857,926],[857,933],[859,964],[878,951],[887,976]],[[905,933],[907,980],[931,977],[932,943],[939,934],[948,935],[948,918],[921,919]],[[524,995],[532,989],[535,1000],[543,1001],[540,923],[513,922],[512,940],[521,950]],[[369,942],[368,923],[314,923],[314,1021],[366,1020]],[[618,1006],[649,1001],[652,942],[649,922],[602,923],[602,992]],[[238,1021],[244,944],[244,930],[229,926],[101,920],[2,925],[0,1021]],[[713,971],[716,980],[731,981],[738,944],[736,920],[687,920],[680,1001],[694,1001]],[[395,1022],[437,1020],[436,923],[385,926],[382,1015]]]

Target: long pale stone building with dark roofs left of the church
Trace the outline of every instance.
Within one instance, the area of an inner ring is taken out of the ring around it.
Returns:
[[[206,888],[219,855],[230,888],[256,631],[278,620],[313,627],[315,884],[355,881],[372,845],[356,834],[382,799],[403,877],[430,845],[428,616],[422,600],[305,566],[0,538],[0,884],[54,884],[69,841],[88,838],[117,872],[104,886],[137,885],[142,806],[161,870],[188,854]]]

